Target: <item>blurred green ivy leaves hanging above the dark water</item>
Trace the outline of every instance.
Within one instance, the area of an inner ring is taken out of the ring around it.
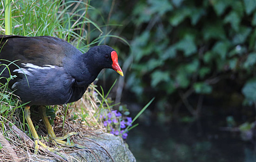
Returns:
[[[125,88],[139,101],[155,95],[170,108],[179,100],[169,99],[186,92],[198,96],[218,90],[225,93],[218,83],[236,76],[232,81],[244,86],[246,100],[254,102],[254,85],[246,81],[255,77],[256,70],[255,0],[132,0],[121,4],[113,15],[118,15],[114,20],[124,27],[116,32],[131,40],[129,55],[133,56]],[[110,8],[110,3],[106,5],[105,9]],[[237,87],[233,90],[241,93]]]

